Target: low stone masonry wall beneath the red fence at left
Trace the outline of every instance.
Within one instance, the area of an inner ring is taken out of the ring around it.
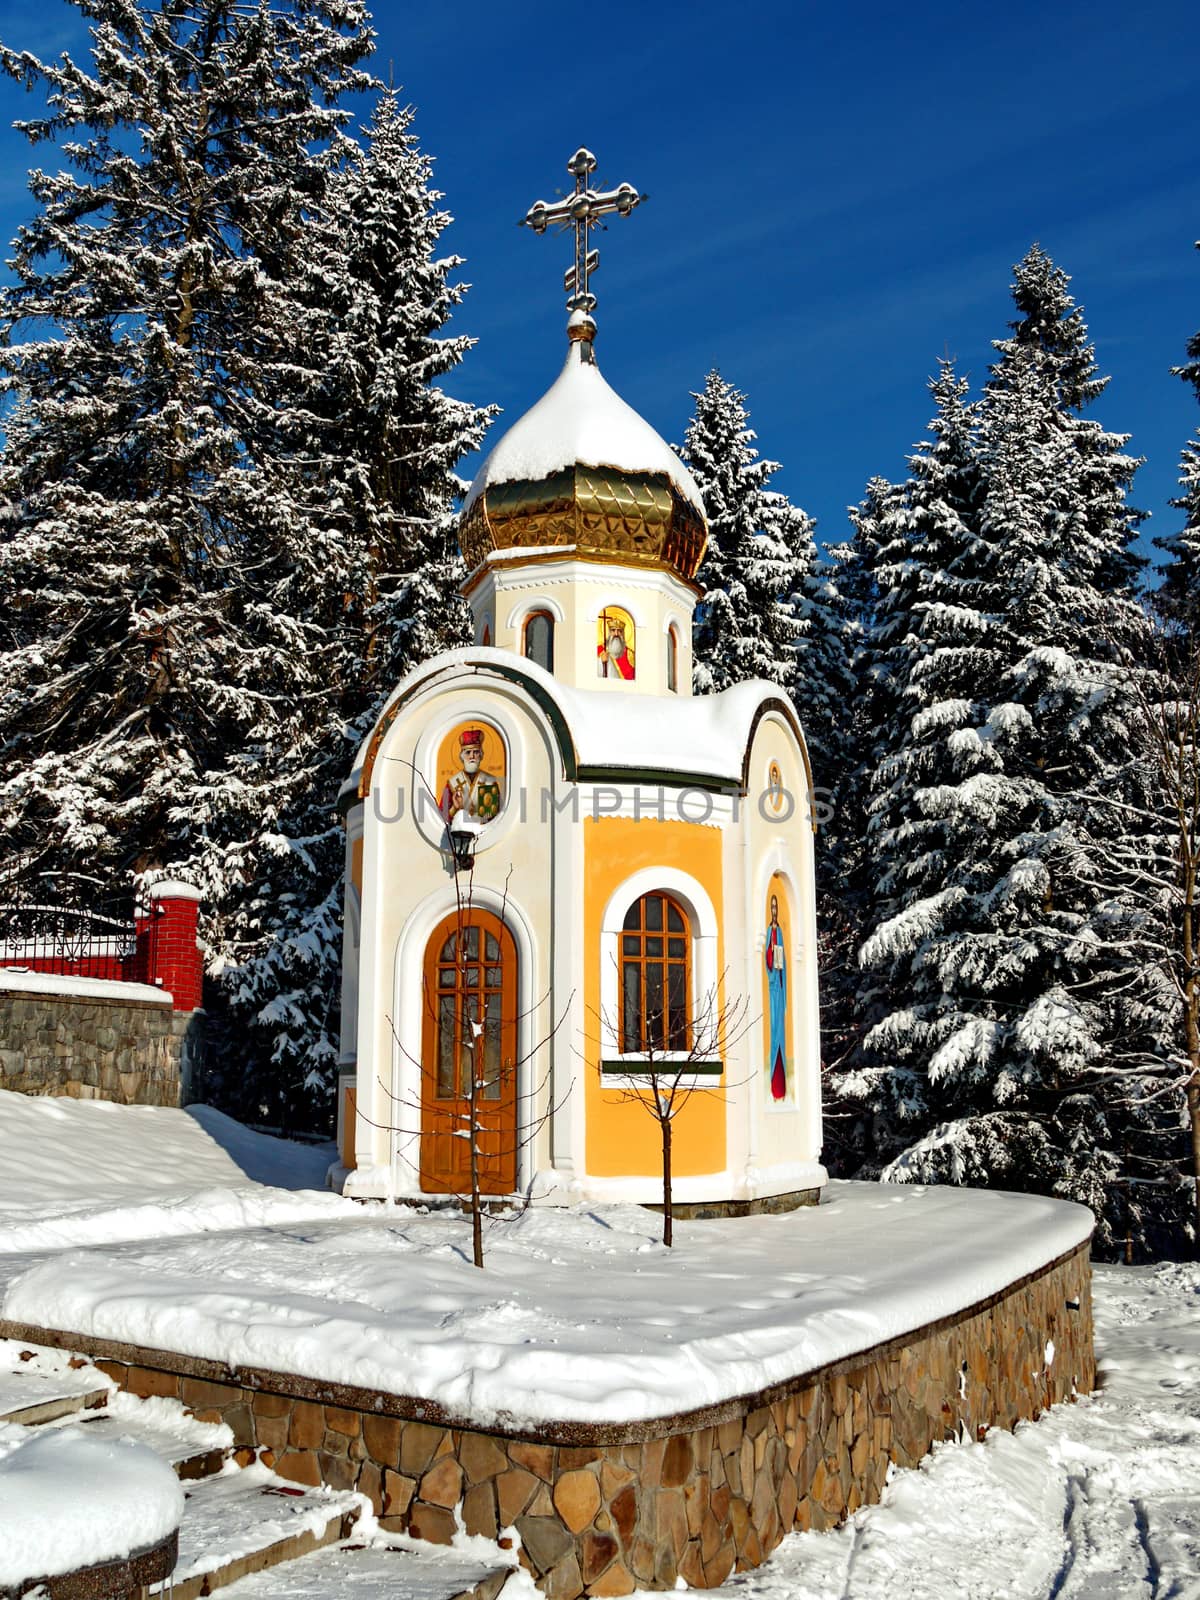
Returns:
[[[202,1021],[170,1003],[0,987],[0,1090],[179,1106]]]

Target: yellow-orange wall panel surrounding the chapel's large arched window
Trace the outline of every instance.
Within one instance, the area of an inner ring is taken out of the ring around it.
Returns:
[[[600,925],[610,899],[632,874],[646,867],[675,867],[704,886],[723,923],[722,830],[694,822],[656,818],[584,819],[584,1107],[586,1163],[595,1178],[656,1178],[662,1173],[662,1142],[656,1118],[600,1082]],[[725,1003],[725,938],[718,936],[718,1005]],[[672,1170],[694,1178],[725,1170],[725,1094],[701,1088],[678,1114],[672,1139]]]

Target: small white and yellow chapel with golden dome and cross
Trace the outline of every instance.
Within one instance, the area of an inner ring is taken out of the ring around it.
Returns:
[[[459,542],[475,645],[400,682],[342,790],[338,1141],[347,1195],[677,1208],[814,1203],[811,770],[768,682],[691,690],[707,523],[595,357],[574,229],[565,365],[480,467]],[[474,1104],[472,1104],[474,1099]],[[472,1136],[474,1130],[474,1136]]]

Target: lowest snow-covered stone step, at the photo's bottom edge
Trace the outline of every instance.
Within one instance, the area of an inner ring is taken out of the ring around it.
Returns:
[[[440,1546],[338,1546],[242,1578],[226,1600],[496,1600],[510,1566]]]

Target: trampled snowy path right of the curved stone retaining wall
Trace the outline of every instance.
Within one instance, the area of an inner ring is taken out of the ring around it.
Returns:
[[[1098,1267],[1104,1387],[947,1445],[726,1600],[1200,1600],[1200,1267]]]

